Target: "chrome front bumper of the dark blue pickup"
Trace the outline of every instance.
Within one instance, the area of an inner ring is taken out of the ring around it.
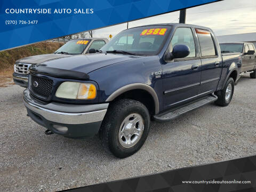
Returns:
[[[67,105],[51,102],[43,105],[30,97],[28,89],[23,92],[23,102],[29,110],[41,115],[47,121],[70,125],[100,122],[108,108],[108,103]]]

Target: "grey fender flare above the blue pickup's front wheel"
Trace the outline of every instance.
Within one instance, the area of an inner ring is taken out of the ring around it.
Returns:
[[[134,84],[125,85],[125,86],[119,88],[118,90],[116,90],[114,93],[112,93],[106,99],[106,101],[107,102],[108,101],[113,101],[115,98],[117,98],[122,93],[124,93],[126,91],[135,90],[135,89],[145,90],[145,91],[147,91],[151,95],[151,97],[154,99],[154,102],[155,102],[155,114],[158,114],[159,113],[159,101],[158,101],[157,94],[156,94],[155,90],[151,86],[146,85],[146,84],[134,83]]]

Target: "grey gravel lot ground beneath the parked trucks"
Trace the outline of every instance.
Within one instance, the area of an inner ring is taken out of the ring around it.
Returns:
[[[56,191],[256,154],[256,79],[241,78],[228,107],[206,105],[151,122],[131,157],[107,154],[98,137],[45,135],[26,116],[17,85],[0,88],[0,190]]]

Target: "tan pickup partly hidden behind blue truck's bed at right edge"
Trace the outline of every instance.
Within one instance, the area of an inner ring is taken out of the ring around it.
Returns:
[[[250,74],[251,78],[256,78],[256,53],[253,43],[220,43],[220,49],[222,53],[241,53],[242,66],[240,70],[240,75]]]

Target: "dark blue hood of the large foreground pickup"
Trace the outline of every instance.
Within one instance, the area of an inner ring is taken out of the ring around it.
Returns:
[[[70,71],[70,73],[76,72],[89,74],[93,70],[136,58],[140,58],[140,56],[113,53],[74,55],[73,57],[47,60],[40,64],[31,66],[30,70],[50,76],[55,76],[55,74],[60,70],[66,71],[65,73]],[[45,73],[46,71],[47,73]]]

